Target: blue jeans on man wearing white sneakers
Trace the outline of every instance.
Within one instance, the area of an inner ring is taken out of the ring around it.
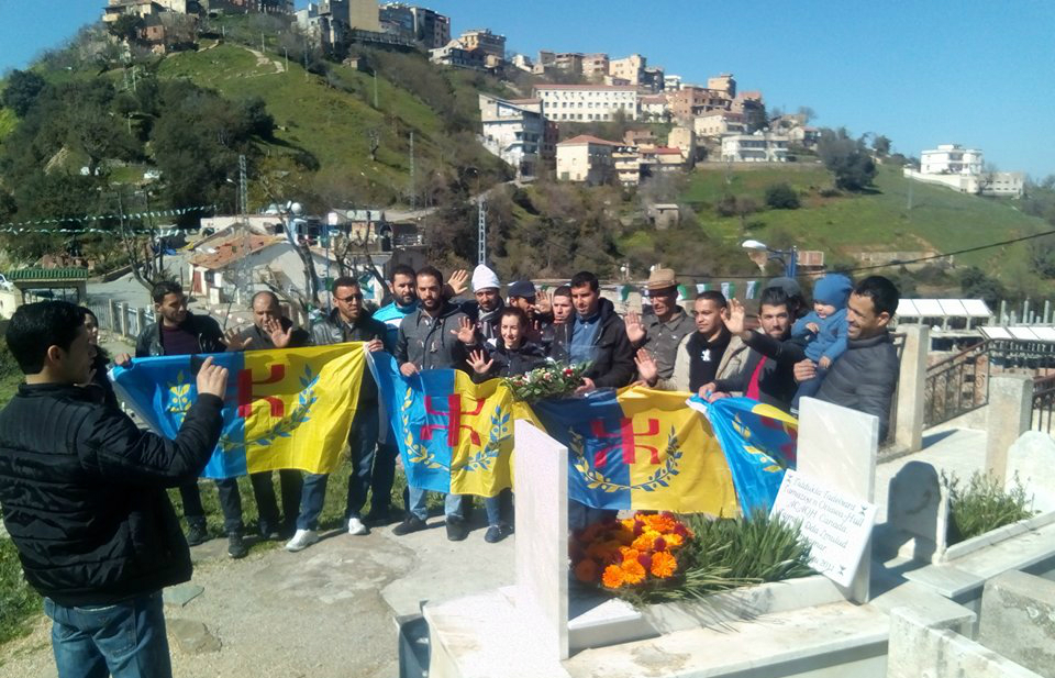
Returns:
[[[362,518],[359,512],[366,503],[370,489],[370,476],[374,471],[374,454],[377,449],[377,405],[360,408],[352,422],[348,433],[352,475],[348,476],[348,500],[344,518]],[[304,487],[300,498],[300,515],[297,516],[298,530],[319,527],[319,514],[326,500],[327,474],[304,474]],[[391,491],[391,490],[389,490]]]

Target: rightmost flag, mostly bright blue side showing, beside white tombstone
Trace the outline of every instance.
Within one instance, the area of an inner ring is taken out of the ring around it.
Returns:
[[[711,422],[733,474],[745,514],[769,512],[784,474],[795,468],[798,421],[781,410],[751,398],[689,399],[690,408]]]

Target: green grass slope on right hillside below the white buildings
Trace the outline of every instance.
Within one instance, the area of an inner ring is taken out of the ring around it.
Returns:
[[[719,218],[713,205],[726,192],[749,196],[765,205],[767,186],[786,181],[803,194],[798,210],[765,210],[747,218],[747,235],[780,244],[852,257],[868,251],[951,252],[1010,240],[1051,229],[1043,220],[1021,213],[1012,200],[980,198],[952,189],[910,181],[897,168],[880,167],[876,191],[824,198],[820,189],[831,176],[820,165],[757,170],[701,169],[692,174],[681,199],[697,208],[704,227],[735,240],[744,234],[740,220]],[[909,194],[911,192],[911,210]],[[1026,259],[1018,244],[956,257],[989,273],[1018,275]]]

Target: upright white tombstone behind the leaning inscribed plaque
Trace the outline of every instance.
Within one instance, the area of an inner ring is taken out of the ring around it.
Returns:
[[[857,501],[875,502],[879,419],[871,414],[803,398],[799,403],[799,447],[796,469],[803,476],[839,489]],[[843,593],[868,602],[871,547]],[[841,587],[842,588],[842,587]]]

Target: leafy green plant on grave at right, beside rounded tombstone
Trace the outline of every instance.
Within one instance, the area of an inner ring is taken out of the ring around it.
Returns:
[[[989,474],[975,471],[966,486],[955,474],[942,473],[942,485],[948,488],[949,544],[956,544],[1025,520],[1036,514],[1033,497],[1014,478],[1010,490]]]

